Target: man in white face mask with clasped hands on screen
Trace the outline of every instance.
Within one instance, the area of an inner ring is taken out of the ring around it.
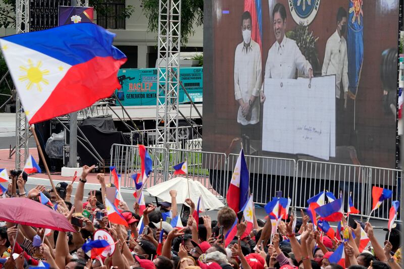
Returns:
[[[241,125],[243,143],[259,133],[260,88],[261,88],[261,48],[251,39],[251,14],[245,11],[241,16],[241,34],[243,41],[234,53],[234,95],[240,105],[237,122]],[[249,142],[247,142],[249,143]],[[244,145],[248,154],[249,146]]]

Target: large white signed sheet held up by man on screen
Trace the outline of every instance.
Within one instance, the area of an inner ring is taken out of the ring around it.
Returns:
[[[335,76],[264,83],[262,149],[335,157]]]

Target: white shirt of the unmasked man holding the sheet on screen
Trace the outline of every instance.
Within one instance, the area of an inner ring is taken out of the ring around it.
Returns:
[[[296,78],[296,69],[308,77],[311,68],[296,41],[284,36],[280,44],[275,41],[268,51],[265,78]]]

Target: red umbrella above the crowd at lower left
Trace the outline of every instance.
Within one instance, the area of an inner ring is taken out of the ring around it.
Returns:
[[[63,214],[28,198],[0,199],[0,220],[62,232],[76,232]]]

